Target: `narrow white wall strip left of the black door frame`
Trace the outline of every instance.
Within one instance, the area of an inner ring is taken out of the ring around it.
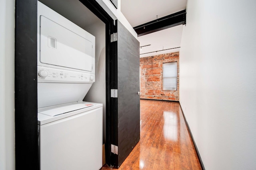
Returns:
[[[0,170],[15,169],[14,0],[0,0]]]

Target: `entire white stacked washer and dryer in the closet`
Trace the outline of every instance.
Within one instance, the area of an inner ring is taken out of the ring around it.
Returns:
[[[95,37],[38,1],[40,170],[102,167],[102,104],[83,102],[95,82]]]

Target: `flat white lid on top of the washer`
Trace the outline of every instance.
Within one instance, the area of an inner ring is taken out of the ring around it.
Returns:
[[[39,113],[53,117],[56,115],[61,115],[64,113],[68,113],[70,111],[75,111],[75,110],[83,109],[83,108],[90,107],[90,106],[94,106],[94,104],[74,104],[74,105],[70,105],[70,106],[58,107],[55,109],[41,111]]]

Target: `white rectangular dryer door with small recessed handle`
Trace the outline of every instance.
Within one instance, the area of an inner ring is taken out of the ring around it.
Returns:
[[[40,16],[40,63],[91,72],[92,50],[88,39]]]

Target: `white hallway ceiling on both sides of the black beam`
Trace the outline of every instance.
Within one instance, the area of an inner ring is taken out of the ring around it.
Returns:
[[[156,20],[156,16],[157,18],[162,18],[175,12],[185,10],[186,4],[187,0],[121,0],[121,12],[132,27],[136,27],[149,21]],[[140,54],[148,54],[140,55],[140,57],[179,51],[179,48],[166,51],[159,50],[180,47],[182,28],[182,25],[178,25],[138,37],[140,46],[151,44],[150,46],[142,47]],[[152,51],[158,52],[149,53]]]

